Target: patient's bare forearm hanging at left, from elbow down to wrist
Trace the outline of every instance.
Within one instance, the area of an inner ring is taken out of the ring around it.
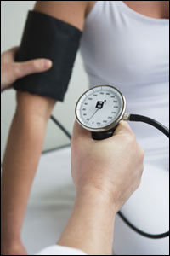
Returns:
[[[20,240],[31,183],[37,170],[47,122],[31,115],[15,114],[3,160],[2,239]]]

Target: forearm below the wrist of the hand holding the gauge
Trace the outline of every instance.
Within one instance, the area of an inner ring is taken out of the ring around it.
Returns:
[[[81,192],[58,244],[89,255],[112,254],[115,215],[107,195],[95,189]]]

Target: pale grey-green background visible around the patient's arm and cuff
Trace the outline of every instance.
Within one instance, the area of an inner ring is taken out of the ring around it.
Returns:
[[[15,45],[20,45],[20,39],[29,9],[33,9],[36,1],[1,1],[1,52]],[[82,57],[78,53],[75,67],[71,76],[69,90],[65,102],[58,102],[53,114],[71,132],[75,120],[74,108],[77,98],[88,89],[88,77],[84,71]],[[15,91],[7,90],[1,95],[1,160],[8,138],[8,130],[15,109]],[[48,131],[43,150],[57,148],[70,143],[62,131],[49,120]]]

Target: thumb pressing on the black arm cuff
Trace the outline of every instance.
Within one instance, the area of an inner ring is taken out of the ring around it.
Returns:
[[[17,79],[25,77],[31,73],[41,73],[52,67],[52,61],[48,59],[37,59],[25,62],[15,62],[15,70],[17,70]]]

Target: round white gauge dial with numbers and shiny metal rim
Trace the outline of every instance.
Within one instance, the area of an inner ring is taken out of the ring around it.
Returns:
[[[122,93],[111,85],[87,90],[76,106],[77,121],[89,131],[107,131],[116,126],[125,111]]]

